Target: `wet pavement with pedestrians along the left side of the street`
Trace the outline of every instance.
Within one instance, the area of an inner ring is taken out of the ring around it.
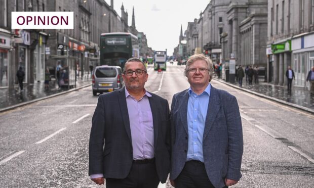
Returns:
[[[57,81],[52,78],[49,82],[49,88],[45,88],[44,82],[36,82],[33,84],[24,84],[23,90],[20,91],[18,84],[14,88],[0,88],[0,112],[11,110],[23,105],[27,105],[43,99],[63,95],[73,90],[90,86],[92,79],[90,74],[76,78],[76,87],[59,88]]]

